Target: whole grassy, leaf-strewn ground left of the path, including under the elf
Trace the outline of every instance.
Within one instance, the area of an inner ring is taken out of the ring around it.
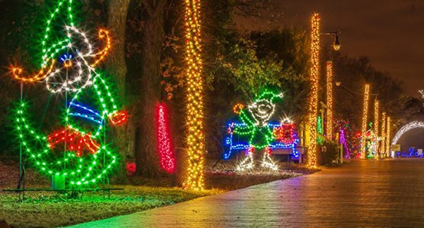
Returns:
[[[16,188],[18,169],[16,164],[1,164],[0,189]],[[208,167],[212,167],[208,165]],[[82,222],[102,220],[127,215],[142,210],[172,205],[201,196],[245,188],[269,181],[288,179],[316,170],[305,169],[298,164],[281,164],[280,172],[234,172],[235,161],[221,162],[206,171],[206,188],[194,192],[170,187],[172,176],[158,179],[131,177],[124,191],[111,191],[110,198],[100,192],[86,192],[82,198],[70,199],[54,192],[26,192],[25,200],[18,202],[18,193],[0,192],[0,221],[6,220],[12,227],[63,227]],[[49,180],[29,169],[27,188],[49,188]]]

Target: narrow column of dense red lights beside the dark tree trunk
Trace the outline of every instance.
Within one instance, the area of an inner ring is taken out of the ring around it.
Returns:
[[[163,103],[156,107],[156,121],[160,167],[171,174],[175,169],[175,155],[171,147],[169,115]]]

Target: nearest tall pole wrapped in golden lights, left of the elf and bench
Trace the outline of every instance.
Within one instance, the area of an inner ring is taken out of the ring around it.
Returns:
[[[201,61],[200,0],[185,0],[186,64],[187,64],[187,149],[188,176],[184,186],[192,190],[204,188],[204,88]]]

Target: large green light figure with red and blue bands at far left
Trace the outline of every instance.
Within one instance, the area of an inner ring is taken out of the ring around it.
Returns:
[[[16,129],[23,152],[42,173],[63,176],[71,188],[80,188],[95,184],[114,167],[117,156],[100,136],[105,136],[107,125],[126,121],[127,114],[118,110],[110,86],[94,68],[111,47],[109,33],[100,29],[98,38],[105,41],[105,47],[94,52],[90,37],[73,23],[72,2],[57,1],[57,8],[47,17],[40,71],[23,76],[23,69],[15,67],[12,73],[22,83],[43,80],[49,92],[65,93],[66,114],[59,130],[47,136],[38,132],[30,124],[28,104],[22,99],[16,112]],[[56,28],[65,31],[56,33]],[[86,99],[88,90],[95,94],[90,101]],[[84,102],[93,103],[99,111]]]

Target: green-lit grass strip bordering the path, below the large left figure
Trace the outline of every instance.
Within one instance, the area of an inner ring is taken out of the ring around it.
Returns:
[[[124,191],[112,191],[110,198],[107,194],[103,197],[101,192],[84,193],[81,199],[69,199],[48,192],[27,192],[22,203],[18,202],[17,193],[1,193],[0,220],[6,220],[13,227],[61,227],[127,215],[218,193],[149,186],[113,187],[124,188]]]

